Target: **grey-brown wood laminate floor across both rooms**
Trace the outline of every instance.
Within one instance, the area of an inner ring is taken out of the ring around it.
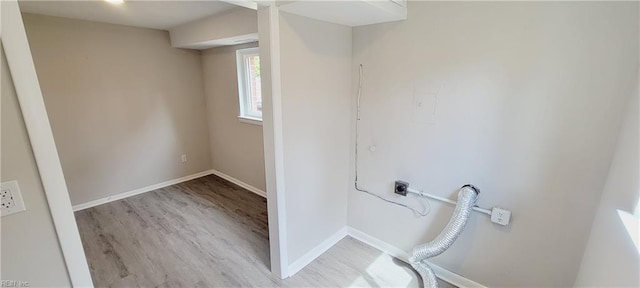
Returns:
[[[82,210],[76,221],[96,287],[418,287],[420,281],[406,263],[350,237],[293,277],[275,277],[266,200],[216,176]]]

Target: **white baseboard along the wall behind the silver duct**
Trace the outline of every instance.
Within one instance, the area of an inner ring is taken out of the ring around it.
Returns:
[[[358,229],[352,228],[352,227],[348,227],[347,228],[347,233],[349,234],[349,236],[360,240],[366,244],[368,244],[371,247],[374,247],[382,252],[385,252],[395,258],[398,258],[399,260],[402,260],[406,263],[408,262],[409,259],[409,253],[407,253],[406,251],[395,247],[387,242],[384,242],[378,238],[375,238],[367,233],[364,233]],[[438,265],[435,265],[433,263],[429,263],[429,266],[431,267],[431,269],[433,269],[433,272],[436,273],[436,276],[438,276],[438,278],[440,278],[443,281],[449,282],[455,286],[458,287],[480,287],[480,288],[486,288],[484,285],[477,283],[473,280],[467,279],[465,277],[462,277],[456,273],[453,273],[447,269],[444,269]]]

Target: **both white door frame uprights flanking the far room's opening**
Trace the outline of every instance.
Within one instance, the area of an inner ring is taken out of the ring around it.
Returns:
[[[56,229],[71,283],[75,287],[93,287],[80,233],[73,214],[67,185],[56,149],[49,117],[38,82],[20,8],[16,0],[2,0],[0,38],[9,70],[31,140],[42,185]],[[271,272],[289,277],[285,213],[284,146],[282,97],[280,86],[280,15],[273,1],[259,2],[258,30],[263,79],[263,141]]]

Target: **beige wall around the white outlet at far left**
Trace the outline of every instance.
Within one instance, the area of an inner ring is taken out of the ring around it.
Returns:
[[[1,57],[0,175],[2,182],[18,181],[27,210],[4,216],[0,221],[0,274],[2,280],[27,281],[31,287],[68,287],[71,282],[4,52]]]

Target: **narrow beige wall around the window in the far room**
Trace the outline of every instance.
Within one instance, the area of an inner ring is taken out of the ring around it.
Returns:
[[[265,188],[262,126],[240,122],[236,50],[257,43],[202,51],[202,75],[213,169],[262,191]]]

